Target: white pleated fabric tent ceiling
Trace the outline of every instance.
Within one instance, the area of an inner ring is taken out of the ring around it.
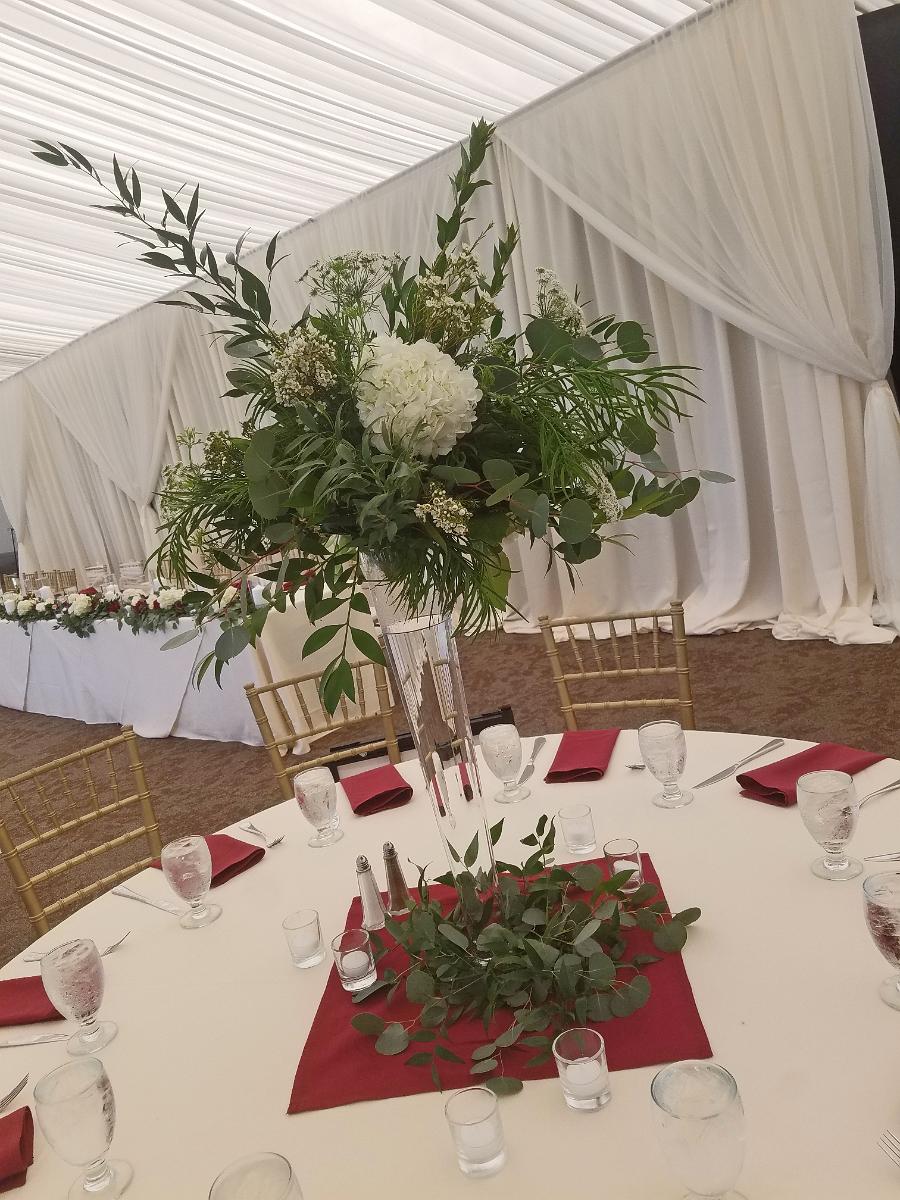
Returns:
[[[199,180],[209,240],[254,245],[707,4],[4,0],[0,378],[170,287],[31,138]]]

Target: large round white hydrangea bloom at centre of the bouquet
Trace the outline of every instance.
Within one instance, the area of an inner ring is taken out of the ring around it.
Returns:
[[[480,398],[473,372],[433,342],[383,334],[367,347],[356,403],[380,450],[398,442],[419,458],[448,454],[475,424]]]

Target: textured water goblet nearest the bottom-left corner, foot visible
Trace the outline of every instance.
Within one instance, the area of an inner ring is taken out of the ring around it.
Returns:
[[[115,1097],[100,1058],[67,1062],[38,1080],[35,1111],[59,1157],[86,1168],[70,1188],[68,1200],[122,1195],[134,1172],[131,1163],[107,1158],[115,1133]]]

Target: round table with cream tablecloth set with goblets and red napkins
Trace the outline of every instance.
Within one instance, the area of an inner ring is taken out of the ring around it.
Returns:
[[[686,736],[685,785],[763,742]],[[600,846],[617,835],[636,838],[652,854],[673,911],[703,910],[684,961],[715,1058],[737,1078],[746,1110],[740,1190],[750,1200],[900,1195],[900,1171],[876,1145],[886,1127],[900,1133],[900,1013],[878,998],[889,967],[865,926],[862,880],[832,887],[816,878],[809,869],[816,846],[798,810],[743,798],[733,778],[696,792],[688,808],[655,808],[655,781],[625,766],[640,761],[632,730],[619,737],[600,782],[545,785],[558,740],[550,737],[539,755],[527,800],[487,800],[490,821],[505,818],[498,853],[520,860],[517,839],[542,812],[586,800]],[[761,762],[805,745],[787,742]],[[859,793],[896,778],[899,766],[886,760],[860,773]],[[286,1115],[330,959],[294,968],[283,917],[318,908],[330,941],[355,894],[355,856],[367,854],[380,874],[388,839],[402,862],[431,860],[434,874],[445,870],[418,763],[401,770],[415,784],[402,809],[355,817],[338,788],[346,836],[328,850],[307,847],[310,828],[295,804],[259,815],[270,836],[283,833],[286,840],[215,890],[223,913],[204,930],[188,934],[164,912],[106,895],[36,943],[49,948],[90,936],[102,947],[132,930],[104,960],[102,1012],[119,1022],[119,1036],[101,1055],[116,1096],[113,1154],[134,1165],[130,1200],[203,1200],[222,1166],[259,1150],[290,1159],[305,1200],[452,1200],[475,1192],[486,1200],[520,1200],[588,1189],[617,1200],[674,1200],[684,1188],[656,1152],[654,1068],[614,1072],[612,1103],[596,1114],[569,1111],[556,1079],[526,1084],[500,1102],[508,1164],[476,1182],[456,1166],[446,1097],[437,1092]],[[488,772],[482,780],[492,794]],[[851,847],[857,856],[900,850],[898,804],[896,796],[886,796],[864,809]],[[236,827],[230,832],[246,838]],[[565,862],[562,839],[557,847]],[[160,871],[131,883],[172,900]],[[13,960],[2,976],[35,970]],[[53,1030],[18,1027],[0,1036]],[[65,1060],[65,1043],[0,1050],[0,1094],[28,1070],[31,1085],[22,1102],[32,1103],[34,1084]],[[19,1194],[62,1198],[74,1175],[38,1132]]]

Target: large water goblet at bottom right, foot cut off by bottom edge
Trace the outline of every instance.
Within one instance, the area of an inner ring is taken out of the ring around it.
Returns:
[[[744,1200],[734,1192],[744,1165],[744,1109],[733,1076],[718,1063],[688,1060],[650,1084],[666,1164],[690,1192],[685,1200]]]

